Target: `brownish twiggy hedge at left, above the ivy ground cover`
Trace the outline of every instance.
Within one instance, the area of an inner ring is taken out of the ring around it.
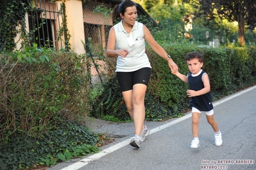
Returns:
[[[87,116],[89,81],[84,59],[36,45],[1,54],[0,147],[15,132],[37,137],[59,120],[79,122]]]

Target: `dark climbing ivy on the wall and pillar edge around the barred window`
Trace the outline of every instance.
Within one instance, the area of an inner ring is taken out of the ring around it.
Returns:
[[[65,37],[65,49],[66,51],[71,50],[71,44],[69,40],[71,35],[67,29],[67,16],[65,15],[65,1],[62,1],[60,11],[63,12],[63,22],[60,27],[58,35]],[[20,39],[22,48],[30,47],[33,45],[31,42],[31,33],[26,32],[26,12],[33,12],[31,8],[31,0],[10,0],[3,1],[0,3],[0,52],[10,52],[16,48],[17,42],[15,37],[20,33]],[[36,28],[37,29],[37,28]]]

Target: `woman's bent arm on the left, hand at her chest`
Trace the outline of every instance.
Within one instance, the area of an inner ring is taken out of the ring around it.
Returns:
[[[115,29],[112,27],[108,34],[108,43],[107,43],[107,50],[106,54],[108,57],[116,57],[121,56],[122,58],[125,58],[128,54],[128,50],[123,49],[115,49]]]

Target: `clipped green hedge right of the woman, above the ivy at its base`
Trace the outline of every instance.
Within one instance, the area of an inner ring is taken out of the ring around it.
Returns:
[[[185,56],[191,51],[201,52],[204,56],[203,70],[209,74],[211,91],[215,94],[228,95],[256,81],[255,47],[198,47],[189,43],[166,45],[165,49],[179,67],[179,72],[189,72]],[[188,98],[185,89],[188,84],[171,74],[167,62],[148,49],[152,76],[148,92],[159,98],[160,102],[175,110],[185,109]],[[215,97],[215,100],[219,98]]]

